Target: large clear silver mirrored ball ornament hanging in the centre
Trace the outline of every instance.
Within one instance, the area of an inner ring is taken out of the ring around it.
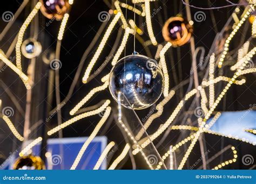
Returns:
[[[135,53],[120,59],[112,68],[109,89],[114,100],[129,109],[140,110],[156,103],[163,92],[163,73],[157,61]]]

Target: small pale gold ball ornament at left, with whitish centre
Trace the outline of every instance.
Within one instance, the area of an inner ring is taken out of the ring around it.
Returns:
[[[36,39],[29,38],[22,43],[21,52],[25,56],[25,58],[35,58],[41,53],[41,51],[42,46]]]

